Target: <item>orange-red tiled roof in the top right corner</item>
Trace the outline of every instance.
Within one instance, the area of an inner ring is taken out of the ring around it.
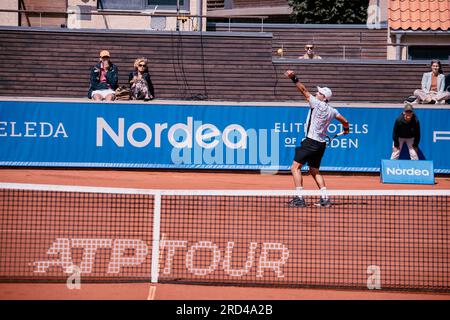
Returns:
[[[389,27],[397,30],[449,30],[450,0],[388,0]]]

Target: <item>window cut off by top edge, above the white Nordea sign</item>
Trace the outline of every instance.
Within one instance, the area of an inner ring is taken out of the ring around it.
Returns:
[[[178,0],[180,10],[189,10],[189,0]],[[98,0],[98,9],[112,10],[173,10],[177,9],[177,0]]]

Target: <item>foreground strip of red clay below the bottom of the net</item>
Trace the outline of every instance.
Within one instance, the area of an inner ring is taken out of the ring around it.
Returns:
[[[0,284],[1,300],[449,300],[449,294],[181,284]]]

